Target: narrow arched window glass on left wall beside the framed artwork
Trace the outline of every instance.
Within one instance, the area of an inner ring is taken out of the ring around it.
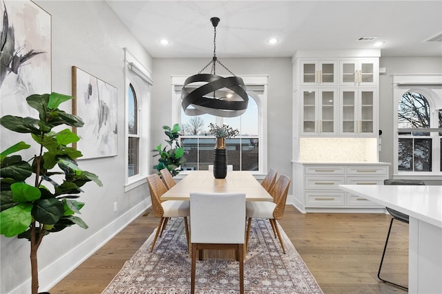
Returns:
[[[129,177],[139,174],[140,134],[138,131],[138,103],[133,85],[128,88],[128,167]]]

